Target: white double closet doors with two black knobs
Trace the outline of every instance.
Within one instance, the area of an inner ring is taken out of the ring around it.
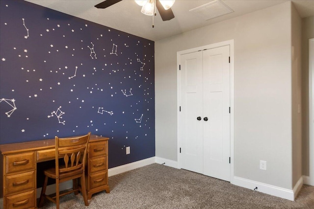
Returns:
[[[181,168],[230,182],[230,46],[180,55]]]

